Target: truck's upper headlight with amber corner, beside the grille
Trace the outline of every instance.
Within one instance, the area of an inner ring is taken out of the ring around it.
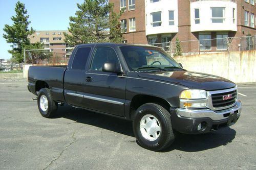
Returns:
[[[205,90],[183,90],[180,93],[180,99],[206,99],[206,91]]]

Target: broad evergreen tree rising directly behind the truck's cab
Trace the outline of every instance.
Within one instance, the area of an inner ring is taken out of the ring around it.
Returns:
[[[77,4],[76,16],[70,17],[69,32],[65,34],[66,43],[74,46],[81,43],[119,42],[122,39],[118,18],[113,12],[114,5],[106,0],[84,0]],[[110,15],[111,13],[111,15]]]

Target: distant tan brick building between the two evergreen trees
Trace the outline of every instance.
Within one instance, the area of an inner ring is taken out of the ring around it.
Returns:
[[[69,31],[36,31],[29,38],[31,43],[43,43],[46,50],[57,54],[58,57],[66,57],[70,53],[63,33],[71,34]]]

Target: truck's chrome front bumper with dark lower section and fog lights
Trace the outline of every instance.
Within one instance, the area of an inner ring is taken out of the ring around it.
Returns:
[[[241,115],[241,101],[231,108],[212,111],[210,109],[170,109],[173,129],[181,133],[200,134],[217,130],[220,126],[236,123]],[[234,116],[235,115],[235,116]],[[198,125],[202,128],[198,130]]]

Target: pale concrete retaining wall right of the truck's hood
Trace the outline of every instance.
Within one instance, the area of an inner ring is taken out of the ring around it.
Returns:
[[[256,82],[256,51],[178,56],[174,59],[190,71],[205,72],[236,83]]]

